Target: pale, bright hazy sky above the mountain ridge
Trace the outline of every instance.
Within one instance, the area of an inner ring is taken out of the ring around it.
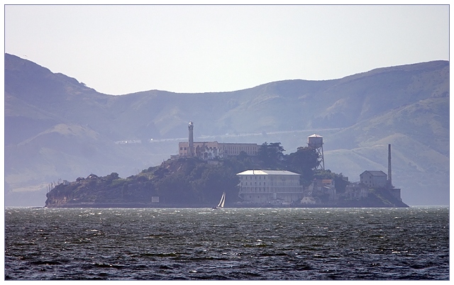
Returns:
[[[449,60],[449,6],[6,5],[5,52],[105,94],[233,91]]]

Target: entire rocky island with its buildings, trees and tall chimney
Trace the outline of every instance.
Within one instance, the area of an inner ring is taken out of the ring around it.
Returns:
[[[45,207],[211,208],[224,193],[228,208],[408,207],[400,189],[392,186],[391,175],[370,170],[360,175],[360,182],[350,182],[321,167],[319,152],[310,145],[284,155],[280,143],[265,142],[255,153],[237,150],[209,159],[190,140],[187,152],[179,148],[181,155],[130,177],[89,174],[52,184]],[[219,147],[216,152],[221,152]]]

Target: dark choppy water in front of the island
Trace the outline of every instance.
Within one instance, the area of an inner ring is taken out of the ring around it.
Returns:
[[[449,279],[449,208],[6,208],[5,279]]]

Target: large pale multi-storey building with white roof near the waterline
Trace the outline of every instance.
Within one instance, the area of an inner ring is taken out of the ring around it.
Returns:
[[[246,170],[236,174],[240,179],[240,196],[251,203],[292,203],[304,197],[300,174],[285,170]]]

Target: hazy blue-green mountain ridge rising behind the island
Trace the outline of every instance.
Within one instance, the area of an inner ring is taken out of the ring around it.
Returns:
[[[350,181],[364,170],[386,172],[391,143],[402,199],[449,201],[446,61],[231,92],[111,96],[5,54],[6,205],[43,206],[46,187],[58,179],[128,177],[158,165],[177,154],[188,121],[196,140],[280,142],[287,152],[323,135],[326,168]]]

